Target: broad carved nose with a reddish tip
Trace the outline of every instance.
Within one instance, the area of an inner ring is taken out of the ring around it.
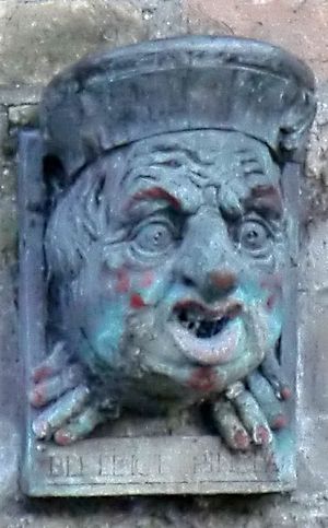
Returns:
[[[195,288],[208,301],[237,286],[238,256],[219,213],[203,212],[191,220],[176,270],[184,285]]]

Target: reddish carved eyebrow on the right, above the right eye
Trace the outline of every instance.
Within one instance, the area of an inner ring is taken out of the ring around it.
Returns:
[[[250,196],[245,200],[246,209],[255,209],[259,213],[273,218],[283,214],[283,202],[280,190],[273,185],[257,185],[250,190]]]

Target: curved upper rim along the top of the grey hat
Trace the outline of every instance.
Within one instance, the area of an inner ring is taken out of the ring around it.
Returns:
[[[218,54],[215,55],[215,66],[219,61],[222,66],[234,62],[239,67],[245,66],[281,78],[293,79],[311,92],[315,90],[315,77],[311,68],[295,55],[277,45],[246,37],[185,35],[129,44],[115,49],[103,49],[89,54],[55,75],[45,90],[45,97],[47,91],[58,89],[59,84],[65,84],[73,79],[78,82],[86,81],[99,70],[106,71],[108,80],[112,81],[131,74],[136,75],[138,72],[142,73],[144,71],[142,64],[128,69],[125,61],[138,63],[140,56],[155,58],[159,54],[177,51],[189,51],[190,55],[204,54],[209,59],[215,52]],[[201,60],[203,61],[204,57]],[[206,68],[208,64],[208,62],[200,62],[197,67]],[[156,70],[161,69],[156,61],[153,62],[153,66]],[[176,64],[172,64],[169,68],[165,63],[163,69],[175,68]]]

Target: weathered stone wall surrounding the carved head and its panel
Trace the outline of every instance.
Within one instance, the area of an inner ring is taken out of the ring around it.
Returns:
[[[85,52],[188,33],[267,39],[305,59],[317,77],[298,284],[305,364],[298,373],[298,490],[245,497],[27,500],[17,488],[17,127],[37,121],[43,85]],[[327,0],[0,0],[0,528],[328,527],[327,156]]]

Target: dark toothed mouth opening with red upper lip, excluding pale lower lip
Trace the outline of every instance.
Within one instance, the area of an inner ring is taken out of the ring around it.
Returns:
[[[197,302],[177,303],[174,307],[174,319],[199,339],[210,339],[220,333],[224,327],[241,312],[237,303],[220,309],[209,309]]]

